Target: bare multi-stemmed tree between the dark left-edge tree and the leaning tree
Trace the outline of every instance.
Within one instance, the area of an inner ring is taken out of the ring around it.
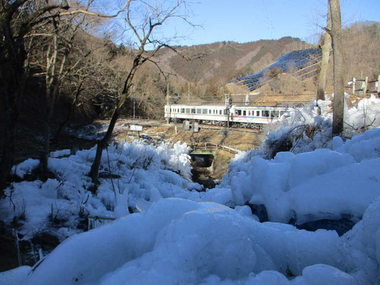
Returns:
[[[91,54],[93,50],[88,50],[85,53],[78,51],[76,46],[76,38],[82,31],[97,21],[103,15],[96,14],[89,9],[94,0],[88,0],[85,7],[77,6],[76,11],[81,13],[66,13],[59,19],[52,19],[50,33],[39,34],[46,36],[48,47],[46,52],[43,53],[43,60],[45,63],[41,68],[44,70],[45,85],[46,85],[46,116],[44,123],[45,138],[42,151],[40,152],[40,175],[43,180],[48,177],[48,155],[51,145],[51,123],[53,118],[54,107],[56,105],[57,97],[60,93],[60,88],[63,81],[74,73],[78,72],[83,66],[83,61]],[[62,15],[63,13],[61,13]],[[46,27],[43,27],[46,31]],[[83,48],[83,46],[81,47]],[[76,96],[74,100],[78,99],[81,93],[82,85],[79,84],[76,89]]]

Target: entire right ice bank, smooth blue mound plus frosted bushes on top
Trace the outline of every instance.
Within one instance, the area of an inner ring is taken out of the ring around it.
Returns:
[[[277,130],[269,132],[262,147],[239,152],[231,160],[229,174],[220,185],[206,193],[192,193],[191,199],[231,207],[264,205],[273,222],[302,224],[342,217],[357,222],[380,195],[380,129],[346,142],[331,140],[331,103],[318,101],[322,115],[315,108],[290,113]],[[359,131],[364,128],[364,115],[367,122],[374,122],[371,128],[380,125],[380,100],[372,96],[359,101],[349,109],[347,122],[356,122]],[[281,152],[282,148],[291,151]]]

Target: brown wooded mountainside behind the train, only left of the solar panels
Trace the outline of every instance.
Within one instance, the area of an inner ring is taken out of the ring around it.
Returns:
[[[223,93],[220,88],[232,78],[257,73],[284,53],[307,47],[311,45],[292,37],[250,43],[223,41],[178,47],[185,55],[201,56],[194,61],[186,61],[182,56],[165,50],[160,61],[178,75],[173,84],[182,87],[182,91],[188,90],[190,82],[194,95],[216,95]]]

